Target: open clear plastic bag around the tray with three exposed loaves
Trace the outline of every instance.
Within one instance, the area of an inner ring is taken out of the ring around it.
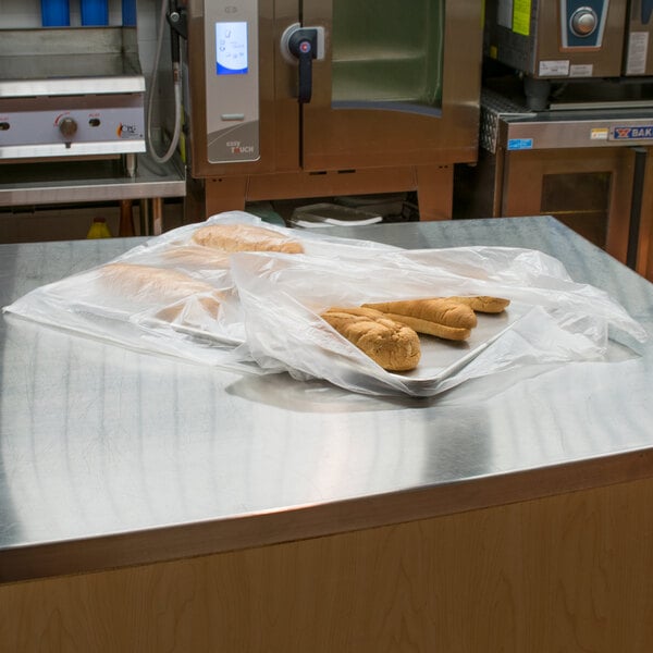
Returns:
[[[648,337],[605,293],[574,283],[559,261],[528,249],[402,250],[337,266],[241,254],[232,260],[232,275],[249,352],[261,368],[326,379],[367,394],[433,396],[468,379],[525,365],[601,360],[608,328],[624,341]],[[426,375],[419,367],[406,374],[381,369],[319,318],[332,306],[452,295],[509,298],[506,312],[517,315],[463,346],[424,336],[422,342],[432,345]],[[438,367],[441,349],[452,356]]]

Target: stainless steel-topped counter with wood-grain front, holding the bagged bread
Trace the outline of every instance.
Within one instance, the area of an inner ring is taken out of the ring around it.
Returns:
[[[541,249],[653,332],[551,218],[332,233]],[[0,246],[2,305],[137,242]],[[409,399],[0,329],[3,651],[652,650],[651,343]]]

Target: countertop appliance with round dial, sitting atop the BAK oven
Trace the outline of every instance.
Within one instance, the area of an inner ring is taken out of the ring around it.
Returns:
[[[653,74],[653,0],[488,0],[484,52],[527,77],[529,107],[546,82]]]

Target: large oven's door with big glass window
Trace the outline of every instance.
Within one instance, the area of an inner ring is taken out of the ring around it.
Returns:
[[[303,26],[324,34],[304,170],[475,161],[481,25],[476,0],[303,0]]]

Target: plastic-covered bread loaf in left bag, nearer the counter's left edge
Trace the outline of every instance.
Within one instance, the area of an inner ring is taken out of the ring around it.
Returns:
[[[217,317],[220,309],[219,294],[213,286],[177,270],[109,263],[99,269],[99,279],[112,294],[141,306],[167,306],[201,295],[199,301],[211,316]],[[161,317],[172,320],[175,315],[161,313]]]

